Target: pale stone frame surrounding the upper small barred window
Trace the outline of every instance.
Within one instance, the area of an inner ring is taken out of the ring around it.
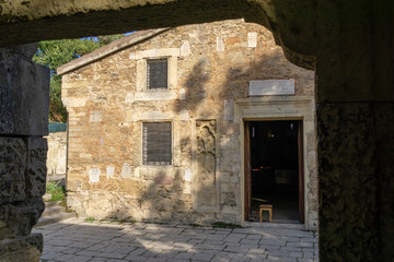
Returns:
[[[179,48],[158,48],[130,52],[129,59],[136,60],[135,100],[177,99],[177,59],[179,56]],[[148,88],[148,61],[155,59],[167,59],[167,88]]]

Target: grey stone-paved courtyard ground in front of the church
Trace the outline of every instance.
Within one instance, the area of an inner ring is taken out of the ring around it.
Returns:
[[[317,237],[286,228],[211,228],[68,219],[44,234],[42,261],[318,261]]]

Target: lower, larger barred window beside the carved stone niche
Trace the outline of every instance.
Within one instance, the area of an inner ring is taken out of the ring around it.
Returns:
[[[143,165],[171,165],[171,122],[142,123]]]

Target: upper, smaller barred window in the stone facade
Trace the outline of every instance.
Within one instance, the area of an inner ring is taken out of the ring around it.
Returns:
[[[147,61],[148,90],[167,88],[167,59],[152,59]]]

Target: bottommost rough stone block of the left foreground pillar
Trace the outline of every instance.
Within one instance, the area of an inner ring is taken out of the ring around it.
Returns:
[[[27,237],[0,240],[0,262],[39,261],[43,242],[43,235],[37,233]]]

